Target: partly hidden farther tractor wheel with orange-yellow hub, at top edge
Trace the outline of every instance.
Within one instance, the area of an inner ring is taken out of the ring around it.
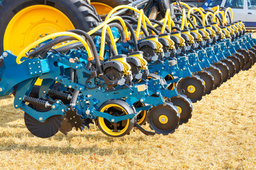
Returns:
[[[91,0],[91,5],[95,7],[100,16],[105,16],[107,13],[120,5],[127,5],[132,3],[133,0]]]

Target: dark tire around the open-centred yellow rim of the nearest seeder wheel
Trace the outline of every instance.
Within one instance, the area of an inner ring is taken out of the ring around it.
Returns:
[[[125,111],[127,111],[128,114],[132,114],[134,113],[134,110],[132,109],[131,106],[129,106],[128,103],[126,103],[125,101],[121,101],[121,100],[110,100],[110,101],[106,101],[105,103],[102,104],[102,106],[100,106],[99,108],[99,111],[106,105],[109,105],[109,104],[117,104],[119,106],[122,106],[122,108],[125,109]],[[98,117],[99,118],[99,117]],[[97,126],[99,127],[100,131],[102,131],[105,135],[107,136],[110,136],[110,137],[122,137],[124,135],[127,135],[131,130],[132,128],[134,128],[134,123],[135,123],[135,118],[132,118],[129,120],[129,126],[127,128],[127,130],[125,132],[123,132],[121,135],[110,135],[108,134],[107,132],[105,132],[102,127],[100,126],[100,123],[99,123],[99,119],[97,118]]]

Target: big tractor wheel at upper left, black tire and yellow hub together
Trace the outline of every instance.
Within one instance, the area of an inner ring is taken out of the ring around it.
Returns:
[[[60,31],[91,30],[101,21],[82,0],[4,0],[0,11],[0,52],[18,55],[37,39]]]

